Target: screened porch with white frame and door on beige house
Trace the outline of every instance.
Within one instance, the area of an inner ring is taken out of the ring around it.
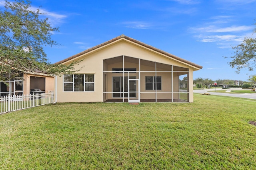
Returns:
[[[119,56],[103,61],[104,102],[188,102],[188,68]]]

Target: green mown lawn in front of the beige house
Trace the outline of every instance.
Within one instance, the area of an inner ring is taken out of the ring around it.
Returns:
[[[256,169],[256,100],[66,103],[0,115],[0,169]]]

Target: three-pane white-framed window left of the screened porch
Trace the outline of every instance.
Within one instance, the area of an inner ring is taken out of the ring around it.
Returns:
[[[94,74],[64,74],[64,92],[94,91]]]

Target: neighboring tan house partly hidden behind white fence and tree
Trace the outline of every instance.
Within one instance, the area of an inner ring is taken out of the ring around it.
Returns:
[[[48,92],[54,90],[54,76],[34,72],[21,73],[20,77],[15,77],[7,82],[0,82],[0,96],[30,94],[37,92]]]

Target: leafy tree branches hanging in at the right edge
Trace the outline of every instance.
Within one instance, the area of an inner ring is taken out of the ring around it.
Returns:
[[[255,23],[256,25],[256,23]],[[254,29],[254,33],[256,28]],[[232,47],[235,50],[235,55],[230,57],[232,59],[228,64],[232,68],[236,68],[236,72],[240,73],[242,68],[248,68],[249,71],[253,71],[256,68],[256,39],[251,37],[245,37],[244,41]],[[225,57],[226,58],[226,57]]]

